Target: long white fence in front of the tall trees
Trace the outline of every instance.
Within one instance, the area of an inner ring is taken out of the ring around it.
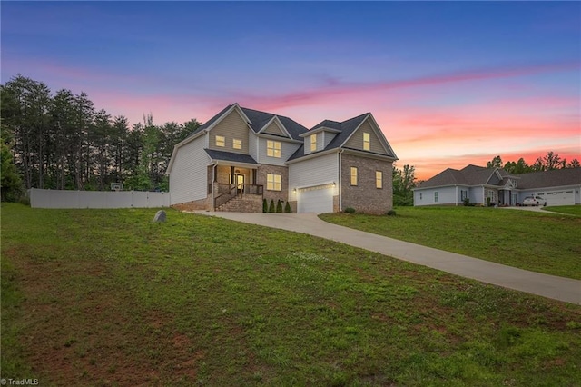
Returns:
[[[157,208],[170,206],[170,193],[62,191],[32,188],[33,208]]]

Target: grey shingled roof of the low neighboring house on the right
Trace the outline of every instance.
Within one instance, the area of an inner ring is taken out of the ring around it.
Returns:
[[[497,183],[492,183],[492,176],[497,174]],[[461,170],[448,168],[434,177],[419,184],[418,188],[441,187],[446,185],[497,185],[505,186],[508,179],[518,181],[518,189],[557,187],[581,184],[581,168],[556,169],[534,172],[531,174],[509,174],[500,168],[485,168],[468,164]]]

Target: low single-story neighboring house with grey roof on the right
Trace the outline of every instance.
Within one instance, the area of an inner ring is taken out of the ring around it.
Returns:
[[[581,168],[556,169],[531,174],[508,174],[500,168],[467,165],[448,168],[414,189],[414,205],[463,204],[519,205],[538,195],[547,205],[581,204]]]

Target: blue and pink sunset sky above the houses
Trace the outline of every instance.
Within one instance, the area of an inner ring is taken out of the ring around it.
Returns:
[[[6,2],[3,84],[85,92],[132,124],[224,106],[307,127],[371,112],[427,179],[581,160],[579,2]]]

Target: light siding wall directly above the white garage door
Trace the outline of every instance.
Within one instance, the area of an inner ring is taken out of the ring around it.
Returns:
[[[289,201],[296,201],[294,189],[335,182],[339,187],[339,154],[325,154],[289,165]],[[333,193],[337,195],[338,193]]]

